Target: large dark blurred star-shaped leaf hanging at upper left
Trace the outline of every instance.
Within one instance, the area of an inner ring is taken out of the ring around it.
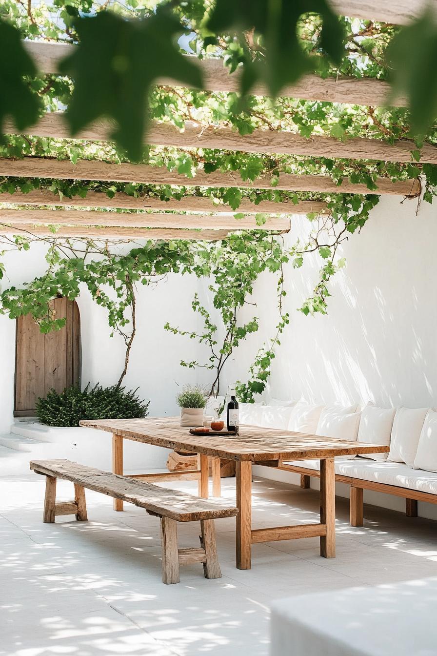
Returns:
[[[187,33],[166,7],[144,20],[126,20],[108,11],[75,22],[79,46],[59,70],[75,81],[66,119],[73,136],[96,119],[115,121],[111,138],[130,159],[143,154],[151,85],[171,77],[200,87],[200,68],[176,47]],[[92,98],[92,102],[90,99]]]

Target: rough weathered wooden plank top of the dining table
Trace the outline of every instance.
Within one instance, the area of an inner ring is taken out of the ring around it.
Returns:
[[[240,435],[197,436],[180,426],[179,417],[147,417],[145,419],[93,419],[81,426],[110,433],[166,449],[195,451],[212,457],[235,461],[307,460],[333,458],[366,453],[387,453],[389,446],[336,440],[289,430],[240,426]]]

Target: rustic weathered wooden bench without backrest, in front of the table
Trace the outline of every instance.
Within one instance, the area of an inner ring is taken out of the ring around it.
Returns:
[[[85,488],[133,503],[161,519],[162,581],[179,583],[180,565],[202,563],[206,579],[219,579],[214,520],[237,515],[237,508],[216,499],[200,499],[178,490],[110,474],[69,460],[35,460],[30,468],[46,476],[43,522],[75,514],[87,520]],[[74,483],[74,501],[56,503],[56,479]],[[200,548],[178,549],[177,522],[200,521]]]

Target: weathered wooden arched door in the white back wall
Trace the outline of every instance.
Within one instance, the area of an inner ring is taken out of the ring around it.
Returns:
[[[47,335],[40,332],[31,314],[19,317],[16,327],[15,416],[35,415],[35,403],[53,387],[56,392],[79,383],[81,376],[81,327],[77,303],[55,298],[56,318],[66,325]]]

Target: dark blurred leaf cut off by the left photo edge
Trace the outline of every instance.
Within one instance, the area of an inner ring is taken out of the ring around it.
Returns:
[[[32,93],[24,76],[37,71],[22,45],[20,32],[5,20],[0,20],[0,133],[5,117],[12,117],[15,127],[24,130],[38,119],[41,103]]]

